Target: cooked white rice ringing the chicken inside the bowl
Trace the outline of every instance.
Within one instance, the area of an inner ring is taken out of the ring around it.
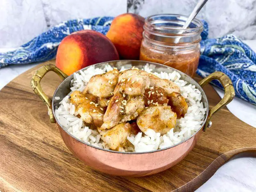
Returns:
[[[76,116],[78,113],[75,112],[75,105],[70,103],[69,95],[75,90],[83,91],[93,75],[105,73],[110,70],[112,70],[110,65],[106,65],[104,69],[94,68],[92,66],[87,70],[80,70],[74,73],[74,79],[71,80],[73,84],[73,87],[70,88],[71,92],[60,101],[59,108],[55,110],[56,118],[70,134],[86,143],[105,149],[109,148],[100,139],[99,132],[85,126],[84,121]],[[123,70],[125,70],[125,68],[121,69],[121,71]],[[153,71],[148,64],[143,70],[149,73]],[[129,147],[125,149],[126,151],[144,152],[170,147],[189,138],[200,129],[204,121],[206,108],[204,108],[203,103],[200,102],[202,95],[201,92],[195,88],[195,85],[188,84],[188,82],[180,79],[180,74],[176,71],[172,73],[154,72],[153,74],[163,79],[172,80],[180,86],[180,93],[188,102],[188,111],[184,118],[177,119],[176,127],[174,129],[172,128],[163,136],[152,129],[148,129],[145,134],[139,132],[137,135],[130,135],[127,139],[133,144],[134,148]],[[56,99],[59,98],[57,97]]]

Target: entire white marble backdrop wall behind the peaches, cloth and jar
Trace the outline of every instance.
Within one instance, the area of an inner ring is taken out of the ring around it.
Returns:
[[[198,0],[1,0],[0,48],[17,47],[62,21],[133,12],[189,15]],[[256,0],[210,0],[197,18],[209,23],[209,37],[233,33],[256,38]]]

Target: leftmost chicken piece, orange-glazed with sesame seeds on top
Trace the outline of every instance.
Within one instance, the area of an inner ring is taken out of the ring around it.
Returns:
[[[70,102],[75,105],[76,111],[85,123],[99,127],[103,123],[104,108],[95,103],[97,98],[91,94],[74,91],[70,95]]]

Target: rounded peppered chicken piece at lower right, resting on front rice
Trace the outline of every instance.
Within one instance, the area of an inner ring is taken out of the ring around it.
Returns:
[[[149,128],[164,135],[175,127],[176,120],[176,113],[172,112],[170,106],[154,106],[145,109],[140,114],[137,118],[137,124],[144,133]]]

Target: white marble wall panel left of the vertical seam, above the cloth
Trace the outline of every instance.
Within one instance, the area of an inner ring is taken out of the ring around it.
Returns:
[[[65,20],[125,13],[127,0],[1,0],[0,12],[0,48],[10,48]]]

